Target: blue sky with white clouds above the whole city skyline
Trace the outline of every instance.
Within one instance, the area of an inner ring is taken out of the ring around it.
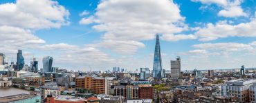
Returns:
[[[1,0],[0,52],[26,64],[53,57],[69,70],[153,67],[160,34],[163,69],[256,67],[255,0]]]

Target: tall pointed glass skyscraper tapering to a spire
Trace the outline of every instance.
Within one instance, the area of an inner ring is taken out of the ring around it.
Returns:
[[[153,78],[160,80],[163,77],[161,49],[158,34],[156,34],[156,46],[154,52]]]

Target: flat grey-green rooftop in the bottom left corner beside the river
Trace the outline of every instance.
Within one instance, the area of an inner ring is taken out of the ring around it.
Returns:
[[[1,97],[0,102],[7,103],[7,102],[15,102],[17,100],[24,100],[28,98],[36,97],[37,95],[29,95],[29,94],[18,94],[18,95],[10,95],[6,97]]]

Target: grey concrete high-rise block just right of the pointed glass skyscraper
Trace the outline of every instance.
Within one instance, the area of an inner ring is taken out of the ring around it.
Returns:
[[[181,77],[181,58],[178,56],[176,60],[171,60],[171,78]]]

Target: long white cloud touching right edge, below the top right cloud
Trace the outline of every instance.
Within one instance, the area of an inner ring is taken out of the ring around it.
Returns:
[[[248,23],[239,23],[230,25],[227,23],[208,23],[205,27],[195,32],[199,37],[199,41],[212,41],[217,38],[227,38],[230,36],[238,37],[255,37],[256,36],[256,21],[253,19]]]

